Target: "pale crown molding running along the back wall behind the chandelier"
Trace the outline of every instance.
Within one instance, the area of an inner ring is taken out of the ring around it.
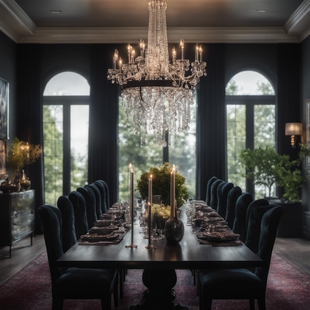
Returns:
[[[169,43],[299,43],[298,35],[286,34],[282,27],[176,27],[168,28]],[[148,37],[147,27],[115,28],[44,28],[31,36],[20,37],[18,43],[91,44],[139,42]]]

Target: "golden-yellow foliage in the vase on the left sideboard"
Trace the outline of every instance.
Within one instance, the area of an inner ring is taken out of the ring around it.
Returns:
[[[11,148],[7,155],[7,161],[16,171],[34,163],[42,153],[40,145],[29,144],[18,138],[14,139]]]

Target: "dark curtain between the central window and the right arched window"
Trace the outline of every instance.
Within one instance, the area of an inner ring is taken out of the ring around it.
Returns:
[[[205,200],[212,176],[226,180],[226,108],[224,44],[204,46],[207,77],[198,87],[197,198]],[[205,52],[206,51],[206,52]]]

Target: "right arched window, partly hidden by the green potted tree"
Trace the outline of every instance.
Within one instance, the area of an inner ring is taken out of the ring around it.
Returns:
[[[262,198],[265,189],[254,188],[251,180],[245,179],[240,153],[275,147],[275,93],[270,81],[256,71],[234,75],[226,86],[226,117],[228,181],[255,193],[256,199]]]

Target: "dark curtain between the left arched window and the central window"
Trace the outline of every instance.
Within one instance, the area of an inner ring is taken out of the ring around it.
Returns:
[[[91,46],[91,106],[89,127],[88,182],[104,180],[110,202],[118,197],[118,94],[120,88],[107,80],[115,45]]]

